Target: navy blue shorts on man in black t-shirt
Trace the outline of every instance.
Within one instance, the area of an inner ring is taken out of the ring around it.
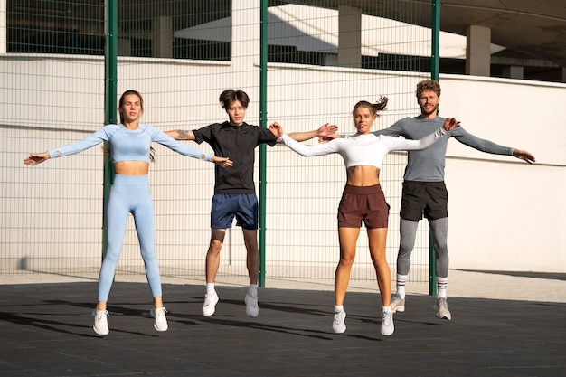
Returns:
[[[216,193],[212,197],[211,228],[227,229],[236,218],[243,229],[258,229],[258,197],[255,193]]]

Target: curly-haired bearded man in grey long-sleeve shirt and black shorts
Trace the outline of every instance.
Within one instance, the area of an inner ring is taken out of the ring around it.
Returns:
[[[440,118],[440,86],[435,80],[422,80],[417,84],[417,101],[420,116],[403,118],[391,127],[375,131],[375,135],[389,135],[420,139],[442,127],[445,118]],[[448,191],[444,184],[444,167],[448,139],[455,137],[460,143],[481,152],[495,155],[515,156],[527,163],[534,162],[529,152],[507,146],[499,146],[489,140],[475,137],[463,127],[450,131],[439,142],[421,151],[409,151],[403,176],[401,197],[401,243],[397,255],[397,293],[391,300],[393,312],[405,311],[405,282],[409,275],[410,254],[415,244],[419,221],[429,221],[436,253],[436,277],[438,297],[434,310],[439,318],[451,319],[448,310],[446,289],[448,285]]]

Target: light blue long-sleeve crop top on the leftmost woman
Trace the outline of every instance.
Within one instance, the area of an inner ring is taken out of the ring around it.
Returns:
[[[55,158],[74,155],[92,146],[98,146],[103,141],[110,143],[112,163],[120,161],[144,161],[148,163],[149,149],[152,142],[166,146],[184,156],[205,161],[212,160],[211,153],[205,153],[193,146],[180,143],[156,127],[142,124],[137,129],[128,129],[122,125],[104,126],[90,135],[90,137],[50,150],[49,156],[50,158]]]

